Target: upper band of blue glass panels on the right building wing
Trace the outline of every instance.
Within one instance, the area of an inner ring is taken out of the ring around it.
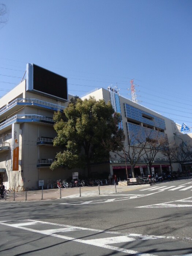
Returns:
[[[139,121],[143,124],[148,124],[153,127],[165,130],[165,121],[162,118],[154,116],[148,112],[141,109],[135,108],[127,103],[124,103],[125,116],[131,118],[132,120]],[[147,116],[148,118],[144,117]]]

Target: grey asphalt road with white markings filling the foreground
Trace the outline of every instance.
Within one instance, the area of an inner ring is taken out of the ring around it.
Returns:
[[[192,255],[192,180],[0,204],[0,255]]]

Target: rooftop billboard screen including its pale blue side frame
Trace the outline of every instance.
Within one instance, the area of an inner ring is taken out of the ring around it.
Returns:
[[[35,64],[27,64],[26,91],[67,101],[67,78]]]

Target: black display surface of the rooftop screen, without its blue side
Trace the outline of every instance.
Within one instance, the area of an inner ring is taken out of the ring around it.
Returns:
[[[61,99],[68,99],[67,78],[34,64],[33,89]]]

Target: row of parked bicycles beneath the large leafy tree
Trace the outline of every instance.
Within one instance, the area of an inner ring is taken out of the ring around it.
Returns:
[[[114,180],[113,179],[102,179],[102,180],[97,180],[97,179],[89,179],[89,180],[57,180],[57,187],[58,188],[72,188],[72,187],[84,187],[84,186],[98,186],[98,185],[113,185]]]

